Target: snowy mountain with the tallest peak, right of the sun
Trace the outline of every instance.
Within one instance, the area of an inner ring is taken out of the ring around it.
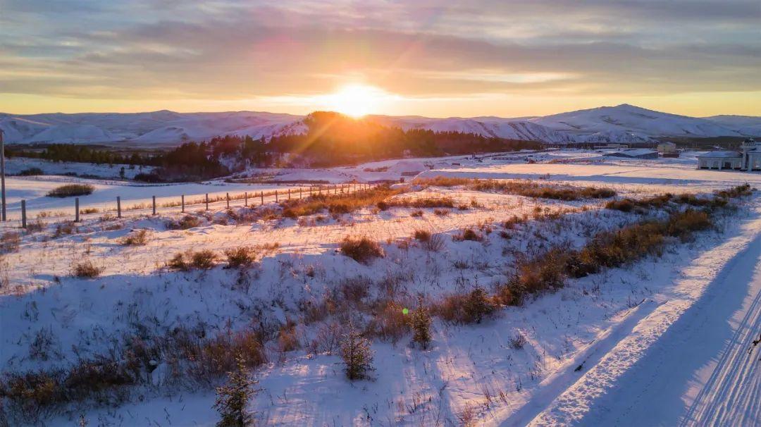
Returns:
[[[597,132],[634,132],[648,136],[742,136],[707,119],[661,113],[629,104],[578,110],[531,120],[573,135]]]

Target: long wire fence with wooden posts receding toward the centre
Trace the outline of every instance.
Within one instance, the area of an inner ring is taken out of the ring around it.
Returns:
[[[125,218],[138,217],[142,215],[160,215],[167,213],[184,213],[188,211],[205,211],[215,209],[230,209],[234,207],[254,207],[262,206],[266,203],[282,202],[290,199],[303,199],[304,197],[317,195],[338,195],[353,193],[361,190],[369,190],[377,184],[371,183],[347,183],[336,185],[309,185],[288,188],[287,190],[269,190],[254,191],[244,193],[225,193],[224,195],[209,196],[205,193],[202,196],[193,194],[186,197],[180,194],[176,198],[162,197],[161,202],[157,202],[156,196],[151,196],[151,202],[139,202],[127,205],[121,196],[116,196],[113,202],[105,204],[99,202],[89,206],[81,206],[79,197],[74,197],[71,210],[66,212],[65,208],[56,208],[56,213],[49,211],[38,212],[34,218],[27,215],[33,206],[27,206],[27,200],[21,200],[21,209],[17,211],[20,216],[15,219],[8,219],[2,223],[2,228],[28,228],[31,224],[44,224],[58,221],[75,221],[81,222],[89,218]],[[104,206],[105,205],[105,206]],[[10,213],[10,212],[9,212]]]

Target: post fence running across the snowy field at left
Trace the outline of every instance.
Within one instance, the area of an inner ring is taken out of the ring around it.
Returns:
[[[81,222],[82,218],[92,218],[95,215],[113,215],[116,214],[116,218],[123,218],[125,215],[132,214],[132,216],[145,215],[148,211],[151,215],[158,215],[161,212],[186,212],[186,209],[192,209],[194,206],[203,206],[205,210],[209,210],[210,206],[220,208],[224,206],[226,209],[230,209],[231,206],[256,206],[264,205],[265,202],[281,202],[286,199],[302,199],[304,196],[315,196],[321,194],[344,194],[352,193],[361,190],[369,190],[374,187],[374,184],[368,183],[348,183],[348,184],[336,184],[333,186],[307,186],[287,190],[275,190],[275,191],[259,191],[259,192],[244,192],[231,195],[225,193],[224,196],[213,196],[209,198],[209,193],[205,193],[202,198],[193,199],[186,202],[185,195],[181,194],[180,199],[177,201],[164,201],[159,206],[156,202],[156,196],[151,196],[151,202],[148,206],[144,203],[133,205],[129,208],[123,208],[121,196],[116,196],[113,209],[100,209],[100,208],[88,208],[87,206],[80,206],[79,197],[74,199],[74,215],[37,215],[37,221],[65,221],[67,218],[74,218],[75,222]],[[164,198],[167,199],[167,198]],[[236,202],[243,201],[242,205],[237,205]],[[233,204],[231,205],[231,202]],[[102,206],[102,203],[99,205]],[[44,213],[44,212],[43,212]],[[21,228],[27,228],[29,221],[27,218],[27,200],[21,200]]]

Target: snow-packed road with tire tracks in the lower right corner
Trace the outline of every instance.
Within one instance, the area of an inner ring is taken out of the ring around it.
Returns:
[[[748,352],[761,333],[758,212],[664,297],[533,419],[505,425],[761,425],[759,350]]]

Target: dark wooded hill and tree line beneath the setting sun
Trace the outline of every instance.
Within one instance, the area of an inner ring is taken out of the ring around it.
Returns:
[[[470,155],[489,151],[540,148],[540,142],[502,139],[474,133],[435,132],[382,126],[371,119],[353,119],[318,111],[304,119],[306,132],[251,136],[224,135],[205,142],[186,142],[152,155],[119,155],[76,145],[50,145],[24,157],[54,161],[155,166],[135,179],[198,180],[221,177],[246,167],[334,167],[385,158]],[[18,153],[17,153],[18,155]]]

